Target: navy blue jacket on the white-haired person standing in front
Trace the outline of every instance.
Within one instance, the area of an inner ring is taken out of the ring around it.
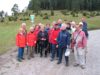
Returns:
[[[62,30],[57,38],[58,45],[60,47],[67,47],[70,45],[70,34],[67,30]]]

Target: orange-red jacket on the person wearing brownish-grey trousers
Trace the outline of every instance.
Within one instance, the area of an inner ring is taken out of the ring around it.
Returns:
[[[37,39],[36,39],[36,36],[34,35],[34,33],[29,32],[27,34],[27,45],[28,46],[36,46],[36,42],[37,42]]]

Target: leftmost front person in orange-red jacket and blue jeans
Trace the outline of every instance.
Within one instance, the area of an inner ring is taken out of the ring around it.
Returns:
[[[22,28],[19,29],[16,35],[16,45],[18,46],[18,61],[21,62],[24,54],[24,47],[26,46],[26,37]]]

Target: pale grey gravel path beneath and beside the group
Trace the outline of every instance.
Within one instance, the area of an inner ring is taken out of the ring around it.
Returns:
[[[74,56],[70,55],[70,66],[65,62],[57,65],[57,60],[50,61],[50,57],[40,58],[35,55],[31,60],[17,62],[17,52],[9,52],[0,56],[0,75],[100,75],[100,30],[90,31],[88,40],[87,67],[73,67]]]

